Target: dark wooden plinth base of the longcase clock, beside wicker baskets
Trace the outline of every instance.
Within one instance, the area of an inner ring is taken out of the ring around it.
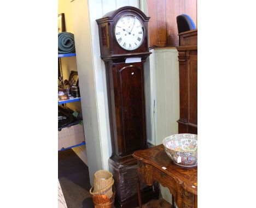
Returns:
[[[114,156],[110,157],[108,161],[109,171],[113,174],[115,180],[115,207],[136,207],[138,206],[136,191],[137,161],[132,156],[127,156],[125,160],[120,161],[117,161]],[[153,191],[153,187],[142,182],[141,190],[143,203],[159,197],[158,186],[155,186]]]

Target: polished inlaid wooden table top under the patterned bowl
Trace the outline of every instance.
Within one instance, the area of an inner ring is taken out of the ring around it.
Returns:
[[[160,144],[146,150],[135,151],[133,157],[171,176],[185,190],[197,195],[197,167],[184,168],[174,164],[167,156],[164,145]]]

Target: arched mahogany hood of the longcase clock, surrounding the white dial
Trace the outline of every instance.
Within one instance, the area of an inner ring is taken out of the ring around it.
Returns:
[[[136,16],[143,25],[144,39],[142,44],[136,50],[128,51],[120,47],[117,39],[115,38],[115,24],[124,15]],[[101,58],[108,59],[119,57],[121,54],[125,54],[127,57],[136,56],[139,53],[145,53],[148,51],[148,21],[150,17],[147,17],[141,10],[136,7],[122,7],[114,11],[110,11],[104,15],[101,19],[96,20],[98,23],[98,32],[100,38]],[[149,53],[150,54],[150,53]]]

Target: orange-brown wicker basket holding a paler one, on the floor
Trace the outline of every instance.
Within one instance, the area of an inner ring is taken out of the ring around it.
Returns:
[[[94,202],[94,207],[95,208],[113,208],[114,207],[114,201],[115,201],[115,189],[114,186],[112,185],[112,196],[108,197],[107,195],[102,195],[101,192],[98,192],[100,195],[92,195],[92,201]],[[94,187],[90,189],[90,193],[95,193]]]

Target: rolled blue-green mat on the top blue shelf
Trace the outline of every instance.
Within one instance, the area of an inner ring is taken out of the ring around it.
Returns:
[[[58,53],[74,53],[74,34],[62,32],[58,34]]]

